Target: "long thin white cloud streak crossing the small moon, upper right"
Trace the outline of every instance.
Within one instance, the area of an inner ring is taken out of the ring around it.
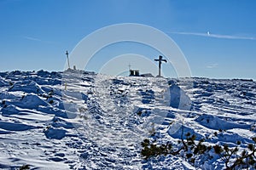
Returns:
[[[215,37],[215,38],[221,38],[221,39],[256,40],[256,37],[241,37],[241,36],[212,34],[209,31],[207,31],[206,33],[201,33],[201,32],[170,32],[170,33],[171,34],[189,35],[189,36]]]

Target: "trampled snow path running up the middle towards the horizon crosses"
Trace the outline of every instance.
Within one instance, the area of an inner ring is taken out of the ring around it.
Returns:
[[[127,89],[118,91],[116,87],[112,87],[110,78],[103,76],[96,77],[94,86],[86,112],[86,116],[90,118],[84,121],[84,133],[79,129],[79,132],[94,144],[90,150],[84,150],[87,154],[82,158],[84,167],[109,169],[139,167],[137,162],[139,151],[136,150],[139,143],[133,141],[137,138],[137,132],[134,132],[135,128],[129,127],[133,125],[129,122],[132,121],[130,118],[132,107],[125,99]],[[112,90],[113,94],[110,94]],[[114,99],[117,96],[119,99]]]

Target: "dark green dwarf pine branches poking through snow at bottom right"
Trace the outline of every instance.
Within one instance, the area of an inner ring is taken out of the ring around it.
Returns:
[[[195,141],[195,134],[186,133],[186,139],[181,138],[177,146],[167,144],[156,144],[156,141],[150,142],[149,139],[144,139],[142,142],[143,150],[141,151],[144,159],[154,156],[169,155],[181,156],[191,165],[196,167],[195,161],[197,159],[212,160],[212,148],[221,160],[224,161],[226,170],[233,170],[237,168],[256,168],[256,137],[253,138],[254,144],[247,144],[247,149],[241,150],[238,146],[230,148],[227,144],[222,145],[206,145],[205,139]],[[236,144],[241,144],[237,141]]]

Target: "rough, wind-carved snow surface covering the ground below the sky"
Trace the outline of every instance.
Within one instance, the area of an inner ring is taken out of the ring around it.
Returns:
[[[159,143],[177,143],[183,124],[207,144],[246,147],[256,136],[256,82],[2,72],[0,114],[0,168],[195,169],[178,156],[144,161],[140,144],[153,132]]]

